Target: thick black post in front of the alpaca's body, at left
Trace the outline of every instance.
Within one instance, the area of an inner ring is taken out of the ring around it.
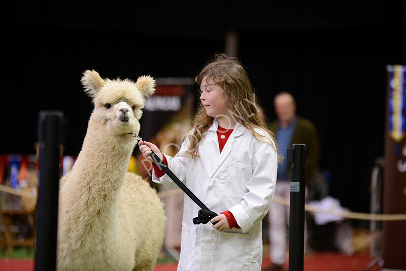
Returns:
[[[56,269],[59,163],[63,136],[63,113],[60,111],[41,111],[38,122],[39,188],[35,270],[48,271]]]

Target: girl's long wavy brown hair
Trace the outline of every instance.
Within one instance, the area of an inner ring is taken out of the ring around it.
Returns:
[[[223,88],[227,108],[234,119],[246,127],[256,140],[270,144],[276,151],[275,135],[268,128],[264,111],[255,97],[251,82],[241,62],[236,57],[218,53],[196,76],[196,83],[200,85],[205,76],[207,76],[207,80]],[[213,120],[213,117],[206,114],[206,109],[200,101],[192,120],[194,130],[189,135],[190,145],[185,153],[186,156],[193,159],[199,156],[198,145],[205,132],[213,124]],[[256,127],[264,130],[268,137],[255,131]],[[267,138],[272,139],[275,146]]]

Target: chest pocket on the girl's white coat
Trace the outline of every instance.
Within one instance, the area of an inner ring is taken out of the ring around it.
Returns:
[[[248,192],[246,184],[252,177],[252,165],[224,162],[219,187],[225,197],[242,199]]]

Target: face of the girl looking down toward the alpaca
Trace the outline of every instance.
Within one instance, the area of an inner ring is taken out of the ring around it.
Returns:
[[[229,117],[222,87],[213,84],[211,80],[207,80],[207,76],[205,76],[203,80],[201,80],[200,93],[201,103],[205,107],[208,116],[213,118],[224,118],[224,116]]]

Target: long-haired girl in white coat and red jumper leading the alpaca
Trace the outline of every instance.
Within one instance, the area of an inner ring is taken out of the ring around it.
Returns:
[[[199,207],[184,198],[178,270],[261,270],[262,219],[274,195],[274,134],[238,59],[215,56],[195,78],[200,101],[193,129],[175,157],[139,142],[146,159],[154,151],[213,212],[211,224],[192,222]],[[154,165],[152,180],[178,186]]]

